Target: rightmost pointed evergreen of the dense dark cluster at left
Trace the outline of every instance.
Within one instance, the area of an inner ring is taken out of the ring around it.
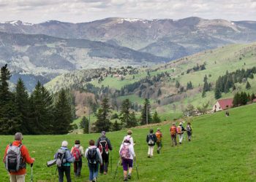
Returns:
[[[72,113],[67,95],[61,89],[54,109],[53,134],[67,134],[71,130]]]

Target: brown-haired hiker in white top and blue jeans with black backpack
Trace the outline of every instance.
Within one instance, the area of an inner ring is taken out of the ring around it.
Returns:
[[[94,140],[89,141],[89,148],[86,149],[85,157],[88,160],[89,181],[96,182],[99,171],[99,163],[102,165],[102,155],[100,154],[97,146],[95,146]]]

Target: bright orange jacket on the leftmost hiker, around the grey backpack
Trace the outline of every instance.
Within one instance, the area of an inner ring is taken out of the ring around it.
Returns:
[[[21,141],[14,141],[14,142],[12,142],[12,146],[19,146],[20,143],[21,143]],[[9,145],[5,149],[4,159],[7,155],[8,148],[9,148]],[[28,164],[32,164],[34,162],[34,160],[31,159],[31,157],[29,156],[29,150],[26,149],[26,146],[21,146],[20,152],[21,152],[21,157],[23,157],[23,162],[26,162]],[[16,173],[10,173],[10,174],[12,174],[12,175],[25,175],[26,174],[26,168],[20,169]]]

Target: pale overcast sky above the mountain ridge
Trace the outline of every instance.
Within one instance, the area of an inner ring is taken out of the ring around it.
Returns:
[[[105,17],[256,20],[256,0],[0,0],[0,21],[89,22]]]

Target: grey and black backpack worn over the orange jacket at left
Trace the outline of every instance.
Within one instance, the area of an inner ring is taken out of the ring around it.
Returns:
[[[18,172],[18,170],[25,168],[26,163],[23,162],[23,157],[21,156],[20,149],[22,144],[19,146],[12,146],[10,144],[7,149],[7,155],[4,159],[5,168],[12,173]]]

